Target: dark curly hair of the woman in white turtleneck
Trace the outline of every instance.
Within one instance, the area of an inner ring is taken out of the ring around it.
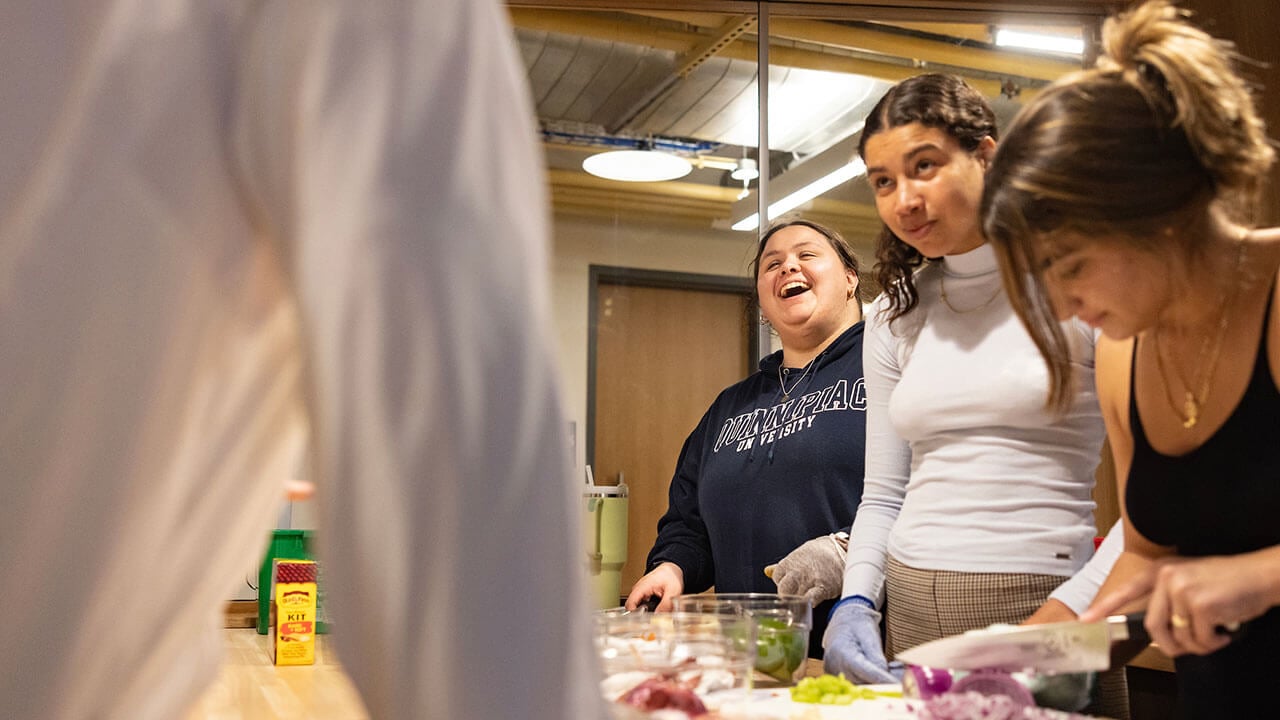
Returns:
[[[928,73],[904,79],[879,99],[863,126],[858,156],[867,159],[867,141],[877,133],[911,123],[946,132],[968,152],[998,133],[996,114],[980,92],[960,77]],[[882,224],[876,260],[876,279],[888,299],[886,320],[892,322],[919,302],[911,274],[927,258]]]

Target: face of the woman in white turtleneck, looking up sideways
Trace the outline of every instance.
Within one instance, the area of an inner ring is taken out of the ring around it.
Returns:
[[[969,152],[946,131],[920,123],[869,137],[867,179],[881,220],[925,258],[978,247],[983,172],[995,149],[986,137]]]

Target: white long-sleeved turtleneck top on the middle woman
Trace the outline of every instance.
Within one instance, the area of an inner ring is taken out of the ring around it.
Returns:
[[[1044,361],[988,245],[929,263],[915,286],[905,316],[886,324],[883,295],[867,316],[867,479],[844,594],[878,602],[888,553],[927,570],[1073,575],[1096,533],[1093,332],[1065,327],[1079,387],[1055,418]]]

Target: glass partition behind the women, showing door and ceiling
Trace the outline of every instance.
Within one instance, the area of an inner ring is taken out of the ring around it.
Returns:
[[[771,217],[836,227],[869,268],[879,220],[855,149],[879,96],[913,74],[952,72],[1007,123],[1080,67],[1097,17],[932,12],[947,22],[924,22],[918,10],[838,4],[570,4],[580,6],[509,9],[552,190],[553,300],[577,462],[631,491],[625,589],[643,570],[685,437],[771,347],[750,300],[762,205],[753,173],[767,169]],[[1007,31],[1044,49],[1001,45]],[[614,173],[641,170],[584,168],[620,156],[659,160],[662,172],[628,181]]]

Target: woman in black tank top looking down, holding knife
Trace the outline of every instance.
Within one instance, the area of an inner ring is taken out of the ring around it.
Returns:
[[[1270,717],[1280,666],[1280,228],[1253,228],[1274,151],[1230,46],[1165,0],[1005,133],[983,225],[1070,397],[1059,318],[1103,333],[1097,388],[1125,552],[1082,620],[1147,611],[1188,717]]]

